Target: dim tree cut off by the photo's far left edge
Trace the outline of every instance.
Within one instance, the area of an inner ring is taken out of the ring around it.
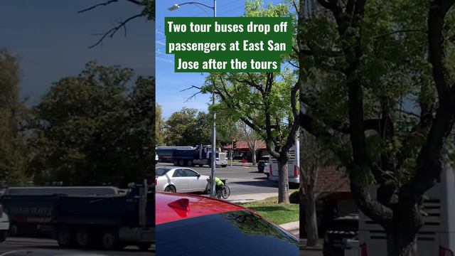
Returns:
[[[26,182],[28,163],[21,131],[27,110],[19,100],[18,86],[18,59],[8,50],[0,49],[0,181],[8,185]]]

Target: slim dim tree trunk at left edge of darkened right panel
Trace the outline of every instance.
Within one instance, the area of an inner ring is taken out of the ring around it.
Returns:
[[[306,191],[305,229],[306,246],[316,246],[319,242],[318,219],[316,217],[316,198],[313,191]]]

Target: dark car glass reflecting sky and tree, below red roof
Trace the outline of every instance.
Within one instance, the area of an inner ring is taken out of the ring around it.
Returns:
[[[166,256],[299,253],[294,236],[247,210],[188,218],[156,228],[156,247]]]

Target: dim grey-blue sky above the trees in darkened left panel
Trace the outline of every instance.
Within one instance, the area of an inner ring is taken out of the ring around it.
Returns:
[[[107,38],[102,46],[87,49],[98,36],[120,19],[141,9],[126,1],[77,14],[105,0],[1,0],[0,48],[21,59],[21,97],[36,105],[53,82],[77,75],[85,63],[133,68],[137,75],[154,75],[154,22],[144,18],[128,23],[123,31]]]

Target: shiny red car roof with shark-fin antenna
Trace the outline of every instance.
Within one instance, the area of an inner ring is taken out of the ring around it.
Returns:
[[[245,208],[206,196],[156,192],[156,225],[237,210]]]

